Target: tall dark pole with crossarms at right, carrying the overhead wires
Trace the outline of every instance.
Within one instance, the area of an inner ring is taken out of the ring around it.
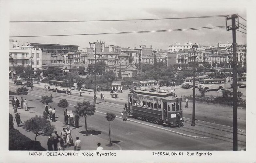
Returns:
[[[228,20],[232,20],[232,28],[227,26],[227,31],[232,30],[232,49],[233,49],[233,151],[237,151],[237,58],[236,58],[236,33],[235,30],[239,28],[238,24],[235,24],[238,15],[234,14],[226,18],[226,24]]]

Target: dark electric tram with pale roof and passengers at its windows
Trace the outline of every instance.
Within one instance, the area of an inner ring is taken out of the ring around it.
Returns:
[[[173,93],[135,90],[128,94],[129,116],[157,124],[183,126],[182,98]]]

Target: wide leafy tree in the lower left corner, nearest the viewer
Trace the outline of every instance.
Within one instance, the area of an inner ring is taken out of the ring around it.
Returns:
[[[37,137],[39,135],[48,136],[49,134],[53,133],[55,126],[52,125],[50,121],[47,121],[43,117],[36,115],[35,117],[32,117],[24,122],[23,129],[25,129],[27,132],[32,131],[34,134],[36,134],[33,145],[35,150],[35,142]]]

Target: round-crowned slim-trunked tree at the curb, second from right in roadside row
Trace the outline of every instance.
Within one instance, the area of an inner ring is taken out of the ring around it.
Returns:
[[[88,136],[87,133],[87,115],[91,116],[94,115],[95,113],[95,105],[90,104],[89,101],[83,101],[83,102],[78,102],[75,108],[75,113],[77,113],[79,116],[85,117],[85,134]]]

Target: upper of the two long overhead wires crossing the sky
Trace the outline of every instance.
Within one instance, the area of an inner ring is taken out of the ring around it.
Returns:
[[[229,14],[230,15],[230,14]],[[196,19],[196,18],[218,18],[226,17],[227,15],[212,15],[212,16],[193,16],[193,17],[177,17],[177,18],[154,18],[154,19],[119,19],[119,20],[77,20],[77,21],[10,21],[17,22],[113,22],[113,21],[145,21],[145,20],[172,20],[172,19]]]

